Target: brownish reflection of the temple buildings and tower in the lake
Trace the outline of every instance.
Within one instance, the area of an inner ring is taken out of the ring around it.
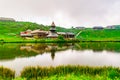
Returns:
[[[55,53],[67,49],[72,49],[73,44],[25,44],[20,46],[20,50],[26,50],[28,52],[35,52],[37,54],[50,53],[52,60],[55,58]]]

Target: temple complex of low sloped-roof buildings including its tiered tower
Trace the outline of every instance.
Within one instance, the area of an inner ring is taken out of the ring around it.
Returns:
[[[59,35],[64,38],[74,38],[74,33],[71,32],[56,32],[55,23],[52,22],[49,31],[37,30],[27,30],[20,33],[21,37],[34,37],[34,38],[57,38]]]

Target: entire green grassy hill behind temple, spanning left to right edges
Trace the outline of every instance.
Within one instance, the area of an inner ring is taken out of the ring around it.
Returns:
[[[120,41],[120,27],[117,29],[104,29],[93,30],[91,28],[79,30],[79,29],[66,29],[63,27],[56,27],[57,32],[73,32],[75,38],[84,41]],[[3,22],[0,21],[0,40],[21,40],[20,32],[28,29],[35,30],[41,29],[48,31],[50,26],[39,25],[32,22]]]

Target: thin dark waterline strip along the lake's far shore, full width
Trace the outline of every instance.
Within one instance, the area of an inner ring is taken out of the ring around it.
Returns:
[[[120,40],[16,40],[0,43],[79,43],[79,42],[120,42]]]

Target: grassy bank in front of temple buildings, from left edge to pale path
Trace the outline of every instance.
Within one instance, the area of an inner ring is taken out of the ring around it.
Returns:
[[[72,42],[79,42],[77,39],[17,39],[15,40],[0,40],[0,43],[72,43]]]

